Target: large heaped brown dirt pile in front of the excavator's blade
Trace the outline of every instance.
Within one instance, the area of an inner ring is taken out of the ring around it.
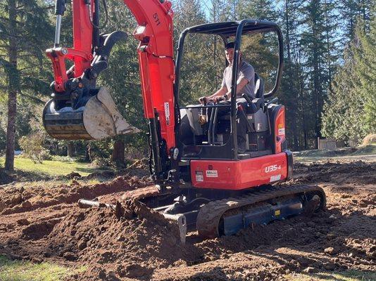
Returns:
[[[51,254],[96,268],[74,278],[147,277],[154,268],[187,258],[175,223],[139,202],[121,206],[121,214],[109,208],[75,209],[54,226],[48,237]]]

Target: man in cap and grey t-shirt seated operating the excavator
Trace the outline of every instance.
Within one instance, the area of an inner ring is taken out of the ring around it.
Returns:
[[[226,59],[229,65],[225,68],[223,72],[223,80],[221,87],[218,91],[213,93],[213,95],[208,97],[201,97],[200,103],[203,103],[203,100],[213,100],[214,103],[220,103],[220,105],[230,105],[231,104],[231,82],[232,82],[232,63],[234,60],[234,42],[227,43],[225,46]],[[243,94],[249,96],[251,100],[255,98],[255,71],[249,63],[246,63],[242,58],[242,53],[239,53],[239,68],[237,74],[237,108],[241,106],[246,108],[247,101],[245,98],[242,98]],[[220,108],[218,110],[218,115],[226,114],[230,108]],[[238,152],[243,153],[246,150],[246,126],[247,121],[244,115],[237,115],[237,143],[238,143]]]

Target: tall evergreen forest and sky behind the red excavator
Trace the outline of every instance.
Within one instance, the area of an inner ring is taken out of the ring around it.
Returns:
[[[123,1],[106,0],[108,22],[101,32],[132,34],[136,22]],[[292,150],[317,148],[317,138],[356,145],[376,131],[375,0],[175,0],[175,44],[186,27],[252,18],[277,22],[284,34],[284,72],[277,96],[287,107]],[[63,18],[62,45],[72,45],[71,7]],[[102,16],[102,21],[104,16]],[[141,133],[105,141],[56,141],[44,132],[42,110],[51,94],[51,63],[44,50],[54,41],[54,1],[0,1],[0,155],[13,169],[14,150],[42,158],[82,155],[101,164],[123,163],[148,153],[142,109],[137,40],[113,49],[99,79],[120,111]],[[244,40],[242,51],[266,86],[277,62],[272,36]],[[197,103],[220,86],[225,55],[215,37],[189,37],[182,70],[182,104]],[[38,160],[38,159],[37,159]]]

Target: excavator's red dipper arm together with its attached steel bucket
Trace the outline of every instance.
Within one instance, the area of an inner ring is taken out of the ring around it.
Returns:
[[[127,39],[125,32],[99,34],[99,1],[73,2],[77,15],[94,11],[91,20],[73,20],[73,48],[60,46],[61,17],[65,0],[56,0],[54,48],[46,50],[54,67],[51,100],[43,110],[43,124],[53,138],[63,140],[99,140],[138,130],[119,112],[106,87],[96,86],[99,74],[108,67],[113,46]],[[92,44],[83,42],[92,41]],[[65,62],[73,66],[66,70]]]

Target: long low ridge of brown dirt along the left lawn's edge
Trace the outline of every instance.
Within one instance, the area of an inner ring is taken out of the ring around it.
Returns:
[[[18,190],[0,190],[0,214],[15,214],[31,211],[41,207],[49,207],[62,203],[75,203],[81,198],[95,197],[114,192],[134,190],[150,184],[137,176],[119,176],[113,181],[87,185],[73,180],[69,185],[57,185],[46,188],[41,185],[34,188],[19,188]]]

